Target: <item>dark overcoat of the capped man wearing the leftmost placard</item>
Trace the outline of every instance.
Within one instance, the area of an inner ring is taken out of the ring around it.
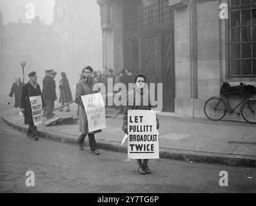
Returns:
[[[21,108],[25,109],[25,111],[24,111],[25,124],[34,125],[29,97],[34,97],[34,96],[39,96],[39,95],[41,95],[43,108],[44,108],[44,101],[43,101],[43,97],[42,97],[42,93],[41,93],[39,84],[37,84],[36,89],[34,88],[34,86],[32,86],[32,84],[30,84],[30,82],[26,83],[25,86],[23,86],[23,89],[21,92]]]

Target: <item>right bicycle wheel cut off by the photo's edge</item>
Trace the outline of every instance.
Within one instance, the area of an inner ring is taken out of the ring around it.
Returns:
[[[256,124],[256,100],[244,102],[241,108],[242,118],[251,124]]]

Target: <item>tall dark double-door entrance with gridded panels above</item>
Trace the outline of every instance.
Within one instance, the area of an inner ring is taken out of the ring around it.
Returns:
[[[163,111],[175,112],[173,12],[168,1],[150,2],[125,5],[124,66],[148,83],[162,83]]]

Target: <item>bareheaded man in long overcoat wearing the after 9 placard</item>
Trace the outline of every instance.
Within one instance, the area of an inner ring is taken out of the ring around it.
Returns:
[[[79,105],[79,119],[80,119],[79,131],[81,131],[81,133],[82,133],[79,136],[77,143],[78,143],[79,149],[83,150],[84,149],[83,141],[84,141],[84,138],[86,137],[86,135],[88,135],[90,149],[91,149],[92,153],[99,154],[99,149],[97,149],[97,143],[95,141],[94,134],[100,133],[101,129],[89,133],[87,115],[86,115],[86,111],[84,109],[83,100],[81,98],[81,96],[90,95],[92,93],[95,93],[95,91],[93,91],[94,81],[91,78],[92,71],[93,71],[92,67],[86,66],[82,72],[84,78],[77,83],[77,86],[75,88],[75,103],[77,103]]]

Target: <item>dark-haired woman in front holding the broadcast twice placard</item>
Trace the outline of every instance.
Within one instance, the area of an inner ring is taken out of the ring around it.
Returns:
[[[150,100],[150,91],[145,88],[146,77],[144,75],[137,75],[134,80],[135,87],[133,91],[130,91],[127,95],[126,107],[124,109],[123,117],[123,131],[128,135],[128,109],[140,109],[151,110],[152,100]],[[132,100],[132,101],[129,101]],[[133,102],[132,106],[128,105],[128,102]],[[157,129],[159,129],[159,120],[157,119]],[[150,174],[150,167],[148,167],[148,159],[137,159],[139,164],[139,174]]]

